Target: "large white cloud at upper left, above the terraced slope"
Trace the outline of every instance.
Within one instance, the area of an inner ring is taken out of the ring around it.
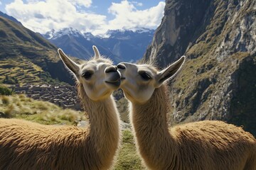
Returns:
[[[78,11],[79,6],[89,6],[90,3],[91,1],[85,0],[15,0],[6,5],[6,12],[27,28],[39,33],[69,27],[87,32],[97,30],[106,23],[106,16]]]

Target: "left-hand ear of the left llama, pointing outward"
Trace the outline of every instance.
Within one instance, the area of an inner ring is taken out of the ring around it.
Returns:
[[[73,60],[71,60],[67,55],[65,55],[63,50],[61,50],[60,48],[58,49],[58,54],[60,56],[60,59],[65,64],[65,66],[68,67],[68,69],[70,69],[70,71],[73,72],[73,74],[75,74],[76,77],[78,77],[79,65],[75,63]]]

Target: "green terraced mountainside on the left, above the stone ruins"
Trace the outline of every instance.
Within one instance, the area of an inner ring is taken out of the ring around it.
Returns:
[[[0,82],[73,84],[55,45],[8,18],[0,16]]]

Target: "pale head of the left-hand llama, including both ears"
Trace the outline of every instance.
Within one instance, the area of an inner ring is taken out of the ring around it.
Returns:
[[[61,49],[58,49],[58,54],[78,83],[82,84],[87,96],[93,101],[100,101],[119,88],[121,74],[111,60],[100,56],[97,47],[92,46],[92,49],[95,56],[84,64],[74,62]]]

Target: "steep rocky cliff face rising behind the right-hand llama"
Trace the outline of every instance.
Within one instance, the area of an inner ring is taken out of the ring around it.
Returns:
[[[225,120],[256,135],[256,1],[166,0],[143,60],[166,67],[181,55],[171,123]]]

